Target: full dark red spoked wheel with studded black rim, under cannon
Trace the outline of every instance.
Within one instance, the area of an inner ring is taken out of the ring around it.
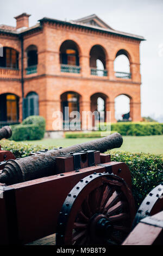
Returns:
[[[130,232],[135,203],[126,182],[94,173],[68,194],[59,214],[57,245],[120,245]]]

